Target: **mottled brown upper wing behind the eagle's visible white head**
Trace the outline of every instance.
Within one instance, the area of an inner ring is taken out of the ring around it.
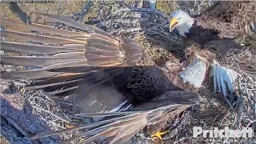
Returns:
[[[218,2],[196,18],[197,26],[217,30],[220,38],[237,38],[251,34],[250,25],[256,22],[255,6],[255,1]]]

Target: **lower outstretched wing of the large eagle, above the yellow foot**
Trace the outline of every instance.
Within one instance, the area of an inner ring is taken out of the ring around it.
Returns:
[[[93,141],[98,137],[105,137],[107,138],[108,143],[123,143],[129,141],[130,138],[145,127],[148,122],[159,120],[162,114],[169,113],[177,115],[195,104],[198,104],[198,94],[186,91],[170,91],[166,94],[160,95],[159,97],[151,99],[149,102],[145,102],[140,106],[135,106],[133,109],[123,112],[81,114],[84,116],[118,116],[117,118],[106,118],[102,121],[90,123],[84,126],[58,130],[50,134],[37,135],[32,137],[32,139],[48,137],[54,134],[69,132],[70,130],[91,128],[86,133],[79,134],[65,142],[70,142],[74,139],[93,134],[93,136],[83,139],[82,142],[86,143]]]

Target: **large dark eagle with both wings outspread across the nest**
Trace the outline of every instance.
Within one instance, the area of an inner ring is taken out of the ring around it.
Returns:
[[[198,104],[194,93],[206,74],[206,64],[195,58],[181,72],[166,72],[131,38],[118,38],[94,26],[65,17],[36,13],[41,18],[61,22],[71,30],[26,24],[1,18],[1,24],[37,30],[31,34],[3,30],[2,37],[34,42],[1,42],[2,50],[36,56],[2,54],[1,63],[13,66],[39,66],[40,69],[2,71],[3,79],[34,80],[27,90],[44,90],[53,98],[70,97],[87,117],[104,117],[98,122],[34,138],[89,129],[67,139],[89,136],[83,142],[106,138],[109,143],[127,142],[148,124],[161,122],[162,115],[177,115]],[[186,81],[185,81],[186,79]],[[190,81],[187,81],[190,79]],[[94,92],[97,91],[97,94]],[[153,134],[161,137],[161,134]]]

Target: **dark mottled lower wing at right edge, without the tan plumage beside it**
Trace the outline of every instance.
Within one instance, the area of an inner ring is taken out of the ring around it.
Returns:
[[[256,74],[256,55],[251,53],[250,48],[241,46],[233,39],[207,42],[205,47],[217,53],[216,58],[222,66],[242,74]]]

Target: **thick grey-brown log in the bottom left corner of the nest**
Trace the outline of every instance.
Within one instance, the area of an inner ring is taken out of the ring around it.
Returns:
[[[4,82],[4,85],[8,85],[7,81]],[[3,88],[2,86],[0,86],[1,90]],[[46,122],[44,122],[41,117],[33,114],[33,109],[31,108],[30,103],[26,101],[26,98],[24,98],[22,94],[18,92],[18,90],[13,94],[1,94],[1,101],[1,115],[14,127],[13,128],[11,125],[7,127],[2,126],[3,129],[6,128],[6,130],[8,130],[3,134],[7,134],[5,136],[11,142],[16,142],[17,140],[19,142],[30,142],[30,140],[27,140],[26,138],[29,137],[30,134],[37,134],[38,132],[41,133],[50,130],[49,125],[46,125]],[[30,126],[31,122],[33,123],[32,127]],[[17,131],[20,131],[26,137],[13,135],[17,134]],[[56,138],[42,138],[41,142],[59,142],[59,140]],[[38,141],[34,141],[33,143],[38,143]]]

